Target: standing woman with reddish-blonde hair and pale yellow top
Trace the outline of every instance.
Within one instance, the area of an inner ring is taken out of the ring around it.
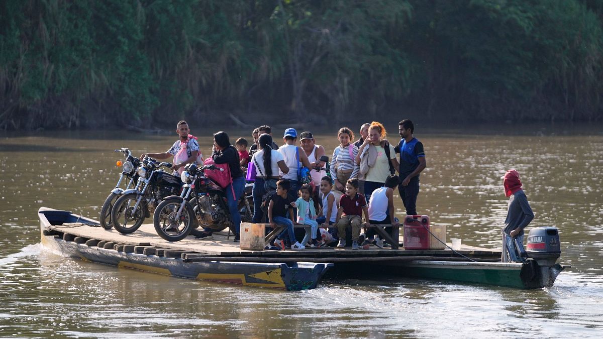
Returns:
[[[368,127],[367,139],[359,148],[356,163],[359,164],[358,177],[364,180],[364,196],[370,201],[371,194],[384,185],[390,174],[395,174],[399,168],[396,151],[385,140],[387,131],[383,124],[371,122]]]

